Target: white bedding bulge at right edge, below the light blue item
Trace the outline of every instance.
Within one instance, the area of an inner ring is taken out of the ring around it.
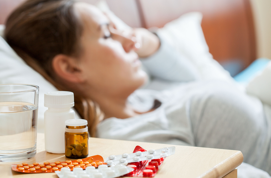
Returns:
[[[248,94],[257,96],[263,103],[271,106],[271,61],[246,86]]]

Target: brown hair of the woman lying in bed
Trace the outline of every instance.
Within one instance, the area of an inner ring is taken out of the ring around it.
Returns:
[[[73,8],[74,0],[28,0],[8,17],[5,38],[17,54],[59,90],[54,81],[52,59],[58,54],[78,57],[83,25]],[[67,90],[67,89],[66,89]],[[74,92],[75,108],[88,120],[89,133],[103,118],[98,104]]]

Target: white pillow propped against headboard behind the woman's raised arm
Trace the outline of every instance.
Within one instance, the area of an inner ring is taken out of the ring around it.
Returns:
[[[201,20],[200,12],[189,12],[158,29],[157,34],[163,36],[176,51],[191,60],[198,69],[201,79],[233,82],[229,72],[209,53],[201,28]]]

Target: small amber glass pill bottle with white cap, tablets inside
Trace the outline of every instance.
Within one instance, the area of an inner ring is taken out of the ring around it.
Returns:
[[[65,121],[65,156],[67,158],[86,158],[89,155],[88,121],[70,119]]]

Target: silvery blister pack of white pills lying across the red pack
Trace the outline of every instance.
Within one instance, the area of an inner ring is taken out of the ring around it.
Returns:
[[[175,146],[165,147],[157,150],[150,149],[149,151],[145,152],[138,151],[130,154],[123,153],[122,155],[110,155],[105,158],[104,162],[106,162],[108,166],[114,166],[118,164],[164,158],[173,154],[175,154]]]

